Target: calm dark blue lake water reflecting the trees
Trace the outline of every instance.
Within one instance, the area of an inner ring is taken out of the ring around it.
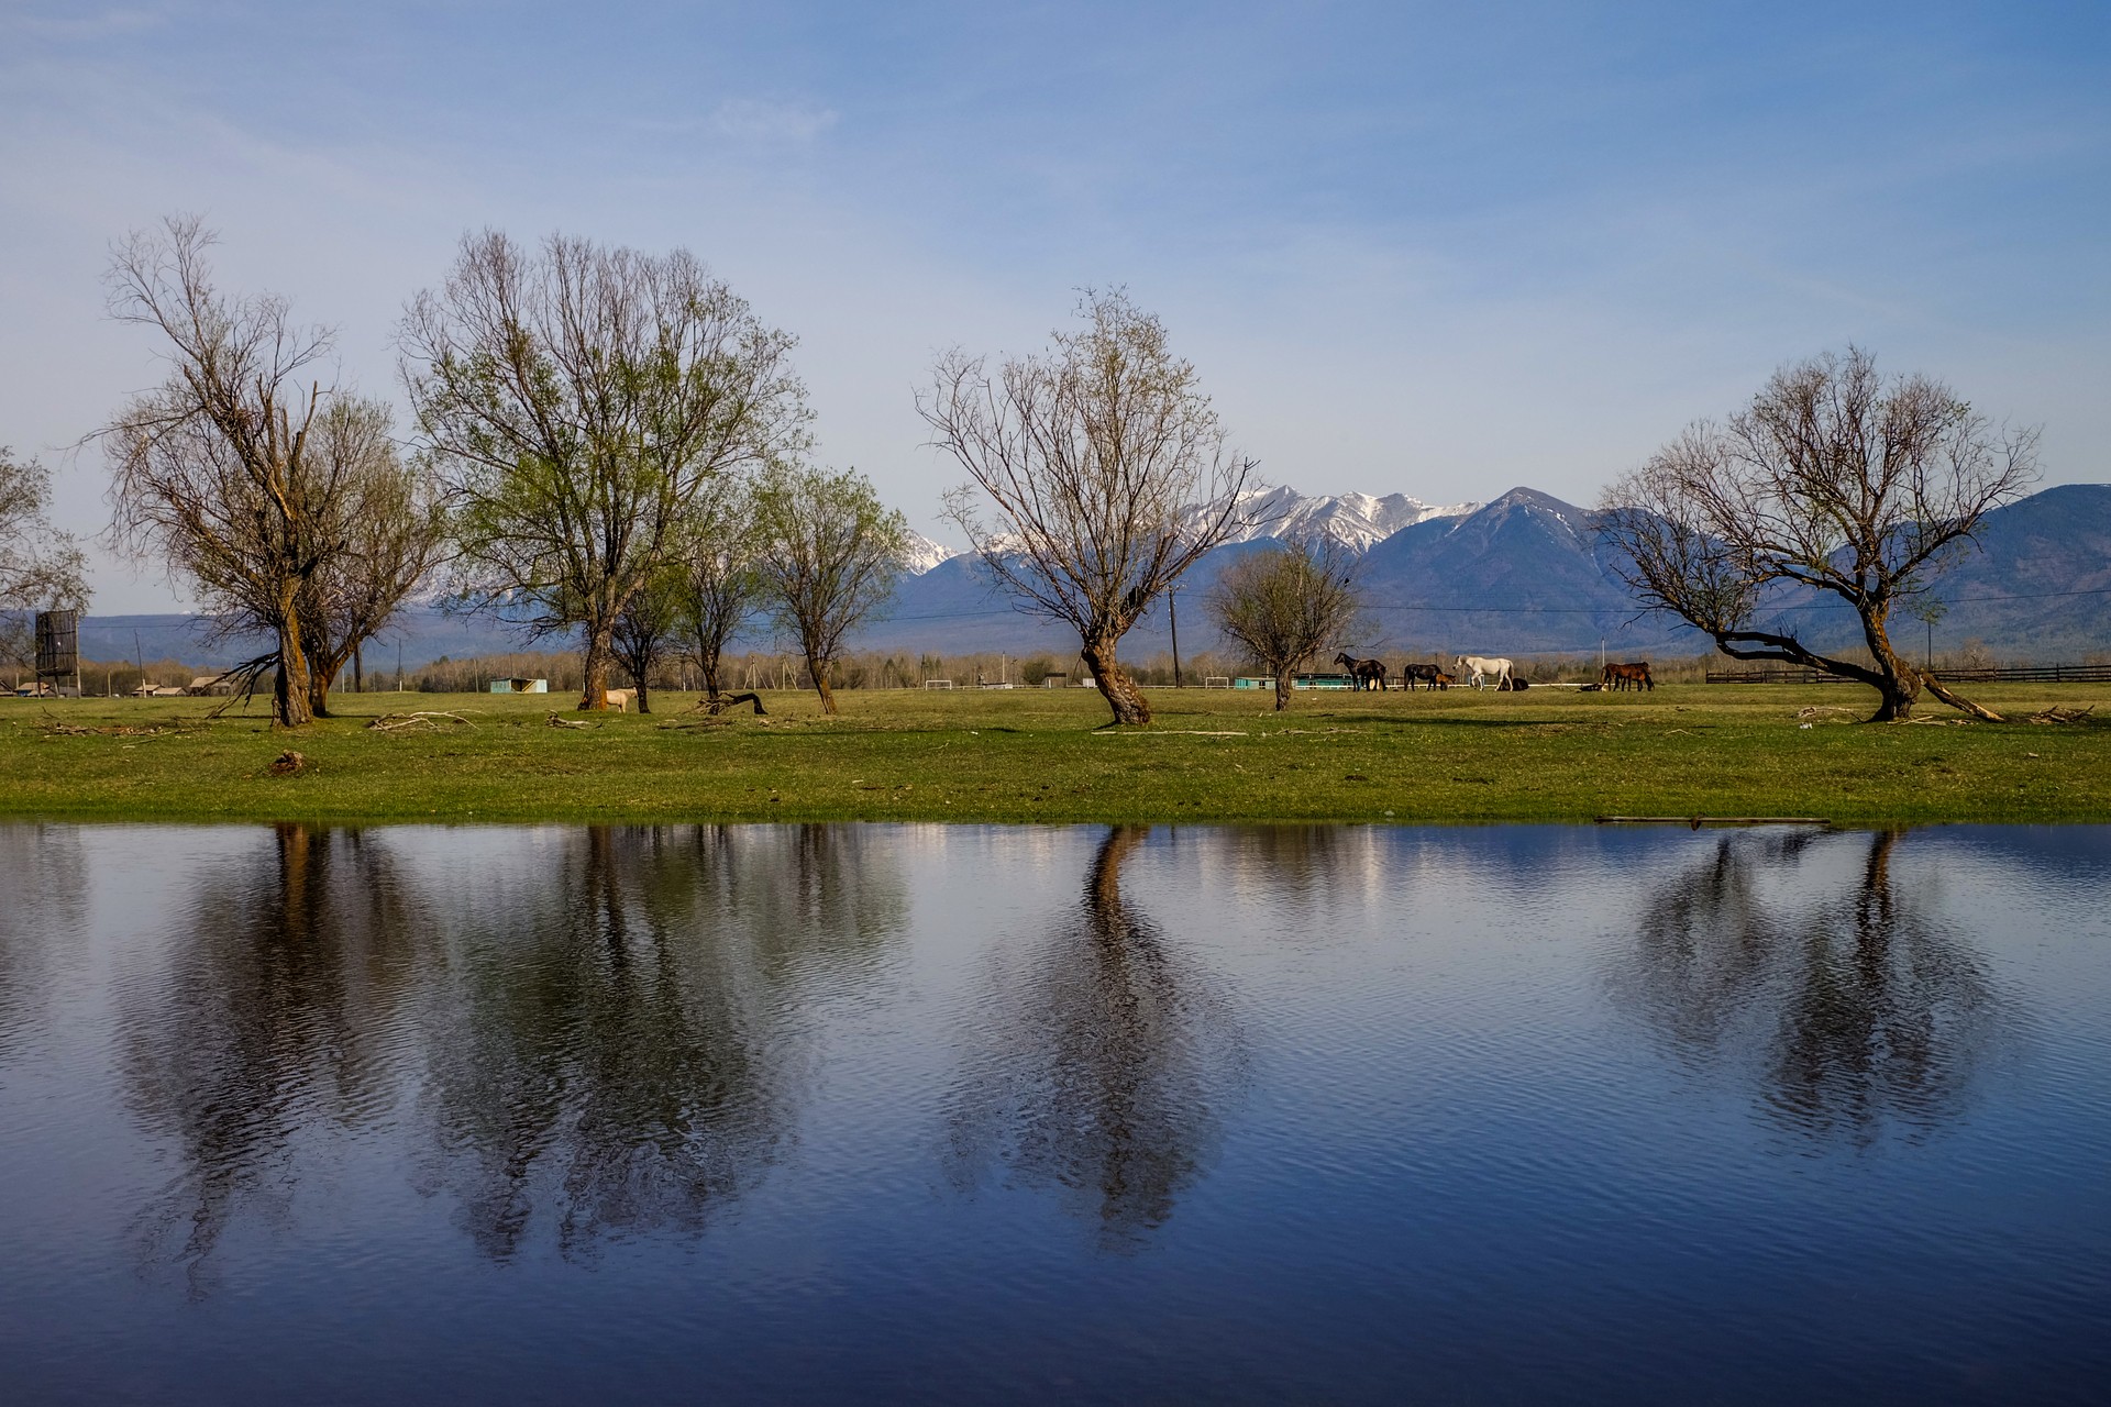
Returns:
[[[21,1403],[2105,1401],[2111,829],[0,827]]]

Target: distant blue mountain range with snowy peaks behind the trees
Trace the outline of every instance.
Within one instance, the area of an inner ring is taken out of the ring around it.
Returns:
[[[1640,614],[1613,574],[1598,536],[1598,515],[1549,494],[1516,487],[1486,504],[1431,506],[1406,494],[1374,498],[1300,496],[1267,489],[1243,504],[1258,523],[1203,557],[1172,599],[1182,654],[1218,645],[1205,599],[1218,574],[1241,555],[1305,532],[1326,532],[1359,555],[1357,582],[1368,624],[1359,652],[1535,654],[1606,652],[1697,654],[1706,637],[1661,616]],[[904,576],[889,616],[868,627],[857,650],[887,652],[1047,652],[1064,658],[1077,637],[1064,627],[1015,612],[973,555],[923,542]],[[1946,572],[1936,589],[1946,614],[1936,624],[1936,650],[1984,641],[1997,658],[2073,660],[2111,650],[2111,485],[2073,483],[2043,489],[1991,513],[1978,551]],[[1782,593],[1765,620],[1794,624],[1820,648],[1858,639],[1843,605]],[[1765,622],[1763,620],[1763,622]],[[1172,645],[1167,608],[1155,608],[1123,643],[1123,654],[1148,658]],[[192,616],[89,616],[82,654],[129,660],[135,654],[228,664],[260,648],[232,641],[205,650]],[[1894,616],[1902,645],[1923,639],[1923,627]],[[378,669],[439,656],[467,658],[519,650],[502,627],[420,608],[367,650]],[[768,648],[758,639],[756,648]]]

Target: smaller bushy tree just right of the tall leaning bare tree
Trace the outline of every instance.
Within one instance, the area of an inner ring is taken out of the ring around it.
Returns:
[[[315,428],[315,451],[336,462],[344,492],[334,510],[340,544],[300,599],[308,645],[308,700],[329,715],[329,690],[365,641],[380,635],[441,563],[448,513],[431,470],[397,454],[393,416],[380,401],[331,401]]]

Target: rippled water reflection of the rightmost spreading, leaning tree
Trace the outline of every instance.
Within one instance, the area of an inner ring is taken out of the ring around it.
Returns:
[[[1727,835],[1657,888],[1615,987],[1682,1057],[1744,1059],[1767,1116],[1875,1143],[1957,1118],[2001,1044],[1984,960],[1891,873],[1898,831]],[[1864,846],[1847,892],[1811,869]]]

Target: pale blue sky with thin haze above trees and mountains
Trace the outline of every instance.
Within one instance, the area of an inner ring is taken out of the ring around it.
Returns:
[[[101,314],[169,211],[391,327],[469,228],[688,245],[798,333],[821,454],[918,527],[912,392],[1127,285],[1273,483],[1592,502],[1847,342],[2111,479],[2111,6],[0,0],[0,443],[156,378]],[[165,610],[99,559],[97,610]]]

